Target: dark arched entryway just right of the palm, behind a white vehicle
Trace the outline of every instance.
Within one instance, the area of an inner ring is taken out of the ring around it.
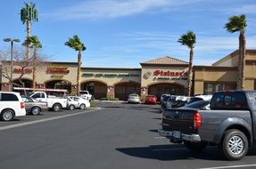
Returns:
[[[96,100],[100,100],[107,97],[107,84],[100,81],[82,82],[81,91],[88,91]]]

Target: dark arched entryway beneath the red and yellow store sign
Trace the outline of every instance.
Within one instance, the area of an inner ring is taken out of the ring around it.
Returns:
[[[46,89],[66,89],[68,93],[71,93],[71,83],[63,79],[54,79],[45,82]]]

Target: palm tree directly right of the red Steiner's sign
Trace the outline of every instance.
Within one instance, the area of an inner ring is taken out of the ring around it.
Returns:
[[[178,39],[178,43],[186,45],[190,49],[189,53],[189,64],[188,64],[188,75],[187,75],[187,95],[191,95],[192,90],[192,66],[194,58],[194,44],[196,43],[196,36],[193,31],[187,31]]]

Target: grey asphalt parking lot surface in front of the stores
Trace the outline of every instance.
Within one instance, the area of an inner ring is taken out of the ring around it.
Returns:
[[[227,161],[158,135],[160,105],[97,102],[101,109],[42,112],[0,122],[1,168],[255,168],[256,153]]]

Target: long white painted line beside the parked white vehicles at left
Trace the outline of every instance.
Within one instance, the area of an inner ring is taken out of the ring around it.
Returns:
[[[96,110],[99,110],[99,109],[90,109],[88,111],[82,111],[82,112],[78,112],[78,113],[75,113],[75,114],[64,115],[64,116],[61,116],[61,117],[45,118],[45,119],[36,120],[36,121],[32,121],[32,122],[25,122],[25,123],[22,123],[22,124],[7,125],[7,126],[0,127],[0,131],[7,130],[7,129],[12,129],[12,128],[16,128],[16,127],[21,127],[21,126],[25,126],[25,125],[38,124],[38,123],[51,121],[51,120],[55,120],[55,119],[61,119],[61,118],[65,118],[65,117],[73,117],[73,116],[81,115],[81,114],[96,111]]]

